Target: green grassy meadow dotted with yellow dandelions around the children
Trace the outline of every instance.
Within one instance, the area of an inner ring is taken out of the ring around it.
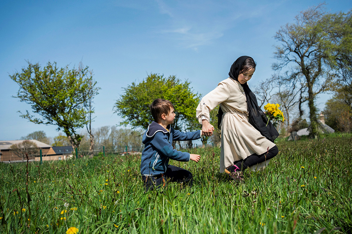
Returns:
[[[0,232],[351,233],[352,134],[277,145],[244,183],[218,172],[219,148],[184,149],[201,161],[171,164],[194,186],[147,193],[138,155],[0,164]]]

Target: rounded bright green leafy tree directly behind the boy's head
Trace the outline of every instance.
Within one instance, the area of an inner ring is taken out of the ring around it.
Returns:
[[[132,82],[120,95],[114,105],[114,113],[124,121],[120,125],[146,129],[153,121],[149,105],[157,98],[169,100],[175,106],[175,121],[172,126],[176,130],[194,131],[199,129],[195,118],[195,110],[200,95],[193,93],[190,82],[183,83],[176,76],[164,78],[163,75],[150,74],[140,83]]]

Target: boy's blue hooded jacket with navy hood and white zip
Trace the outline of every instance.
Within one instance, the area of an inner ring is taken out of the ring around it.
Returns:
[[[167,126],[167,129],[170,132],[153,121],[144,133],[142,142],[145,147],[142,152],[140,165],[140,173],[142,175],[165,173],[170,159],[182,162],[189,161],[190,154],[173,149],[172,140],[188,141],[201,138],[201,130],[184,133],[171,128],[170,125]]]

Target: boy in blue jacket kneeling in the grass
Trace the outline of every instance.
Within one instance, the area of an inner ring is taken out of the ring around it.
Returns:
[[[192,173],[180,167],[169,165],[169,160],[198,162],[200,155],[177,151],[172,147],[172,141],[187,141],[201,138],[202,131],[183,133],[171,128],[176,114],[174,105],[168,100],[155,99],[149,106],[154,121],[143,135],[145,148],[142,152],[140,173],[145,190],[165,186],[166,180],[184,182],[192,186]]]

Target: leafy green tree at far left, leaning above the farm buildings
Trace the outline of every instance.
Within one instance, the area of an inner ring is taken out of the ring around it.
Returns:
[[[37,118],[26,111],[21,117],[33,123],[56,125],[67,135],[73,148],[80,145],[82,136],[77,129],[84,127],[89,122],[87,114],[94,112],[84,105],[90,97],[98,94],[88,67],[80,63],[78,68],[58,68],[56,62],[48,62],[41,69],[38,63],[28,61],[27,68],[10,75],[10,78],[19,85],[14,97],[30,104],[33,113],[41,116]]]

